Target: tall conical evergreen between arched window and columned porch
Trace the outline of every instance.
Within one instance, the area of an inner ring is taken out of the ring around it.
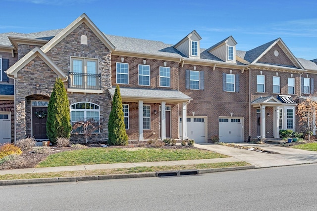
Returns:
[[[108,137],[109,142],[113,145],[127,145],[128,135],[125,132],[124,114],[122,111],[122,101],[120,88],[117,84],[115,87],[112,109],[108,122]]]

